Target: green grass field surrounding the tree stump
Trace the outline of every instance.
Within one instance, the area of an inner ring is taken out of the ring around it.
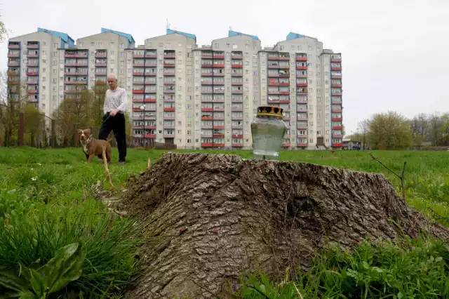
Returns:
[[[177,150],[177,152],[187,151]],[[243,150],[204,152],[252,157],[250,151]],[[398,190],[398,178],[377,161],[373,161],[369,153],[396,173],[401,173],[403,162],[406,161],[408,204],[420,210],[432,208],[440,215],[449,217],[448,152],[284,151],[281,152],[281,159],[384,173]],[[155,163],[161,154],[163,151],[159,150],[131,149],[128,150],[126,166],[119,166],[116,164],[118,152],[113,149],[113,161],[109,170],[114,185],[123,186],[130,175],[147,168],[148,157]],[[64,294],[60,293],[65,295],[65,298],[70,296],[79,298],[80,293],[83,293],[83,298],[101,296],[109,298],[133,279],[133,275],[138,271],[138,263],[134,260],[135,248],[145,240],[135,237],[137,227],[133,220],[114,217],[114,213],[91,196],[92,187],[98,181],[105,181],[102,164],[96,159],[94,161],[93,164],[86,164],[81,148],[61,150],[37,150],[31,147],[0,148],[0,295],[10,291],[10,288],[1,283],[1,271],[5,267],[8,271],[14,272],[14,275],[18,275],[24,268],[39,269],[53,258],[58,248],[80,240],[86,252],[82,264],[83,272],[79,279],[72,281],[63,289]],[[413,295],[417,296],[415,298],[438,298],[438,295],[429,293],[432,289],[436,290],[436,293],[439,292],[440,298],[444,298],[443,293],[449,293],[448,269],[447,265],[442,264],[447,261],[446,252],[442,249],[445,248],[444,244],[424,240],[410,242],[415,242],[415,247],[410,248],[426,247],[428,250],[425,254],[418,253],[415,249],[399,254],[398,248],[391,244],[383,244],[380,247],[362,244],[358,248],[360,252],[357,258],[334,248],[333,251],[326,253],[328,255],[323,255],[326,257],[325,260],[321,256],[314,269],[322,273],[331,273],[328,269],[337,268],[340,272],[335,272],[337,274],[334,276],[323,274],[321,278],[327,279],[324,281],[316,281],[316,275],[302,274],[303,283],[297,283],[297,288],[303,295],[309,296],[304,298],[316,298],[315,295],[318,293],[326,294],[327,297],[334,296],[333,298],[337,298],[338,294],[340,298],[350,298],[344,295],[350,292],[360,295],[354,298],[387,298],[382,296],[389,294],[393,294],[391,298],[413,298]],[[360,258],[362,253],[366,256],[379,255],[384,259],[377,260],[377,264],[372,265],[369,261],[367,263],[366,259]],[[441,255],[443,261],[438,259]],[[431,257],[434,260],[429,262]],[[437,284],[419,281],[424,278],[420,275],[424,274],[412,273],[410,270],[407,271],[410,272],[411,278],[404,280],[401,276],[403,274],[401,271],[406,269],[401,268],[403,260],[413,265],[420,265],[419,269],[424,267],[421,266],[422,263],[428,263],[427,275],[439,277],[440,282]],[[347,271],[348,269],[352,272]],[[348,284],[347,279],[358,281],[358,284],[352,286]],[[410,279],[414,284],[410,281],[408,284],[407,281]],[[441,282],[442,279],[445,281]],[[268,281],[264,281],[263,276],[253,277],[253,280],[253,285],[257,284],[255,281],[259,281],[266,291],[271,285]],[[371,284],[373,281],[375,283]],[[408,284],[410,288],[404,290],[396,287],[396,284],[400,283]],[[331,285],[340,287],[330,288]],[[374,290],[385,285],[389,286],[385,291]],[[359,290],[360,286],[365,287]],[[323,291],[325,288],[328,291]],[[394,288],[394,291],[387,291],[391,288]],[[243,288],[242,292],[241,296],[244,298],[265,298],[260,292],[255,291],[255,288]],[[299,298],[295,292],[291,284],[285,284],[282,287],[276,286],[272,290],[272,295],[267,295],[267,298]]]

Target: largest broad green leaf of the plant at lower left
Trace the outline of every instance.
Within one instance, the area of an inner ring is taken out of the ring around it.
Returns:
[[[81,242],[69,244],[56,251],[55,256],[43,266],[43,286],[47,293],[60,291],[69,282],[79,279],[84,260]]]

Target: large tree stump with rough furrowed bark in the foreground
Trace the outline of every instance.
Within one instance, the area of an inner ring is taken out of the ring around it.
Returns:
[[[142,277],[128,298],[229,296],[239,275],[307,268],[329,241],[417,236],[445,227],[406,208],[380,173],[228,154],[166,153],[128,182],[121,208],[145,219]],[[403,232],[401,232],[401,228]]]

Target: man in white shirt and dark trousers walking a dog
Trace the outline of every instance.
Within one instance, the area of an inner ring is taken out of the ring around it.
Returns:
[[[128,107],[128,95],[124,88],[117,87],[115,74],[107,76],[109,89],[105,95],[105,106],[103,107],[103,121],[98,133],[98,139],[107,140],[107,136],[114,131],[115,140],[119,149],[119,164],[125,164],[126,157],[126,131],[125,113]]]

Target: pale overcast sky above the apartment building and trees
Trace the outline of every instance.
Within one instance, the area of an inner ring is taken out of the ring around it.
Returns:
[[[316,37],[342,53],[347,134],[380,112],[449,112],[449,0],[1,1],[11,37],[43,27],[76,40],[107,27],[143,44],[165,34],[167,19],[171,29],[196,34],[199,45],[227,36],[230,26],[259,36],[262,46],[290,31]],[[6,55],[4,43],[0,70]]]

